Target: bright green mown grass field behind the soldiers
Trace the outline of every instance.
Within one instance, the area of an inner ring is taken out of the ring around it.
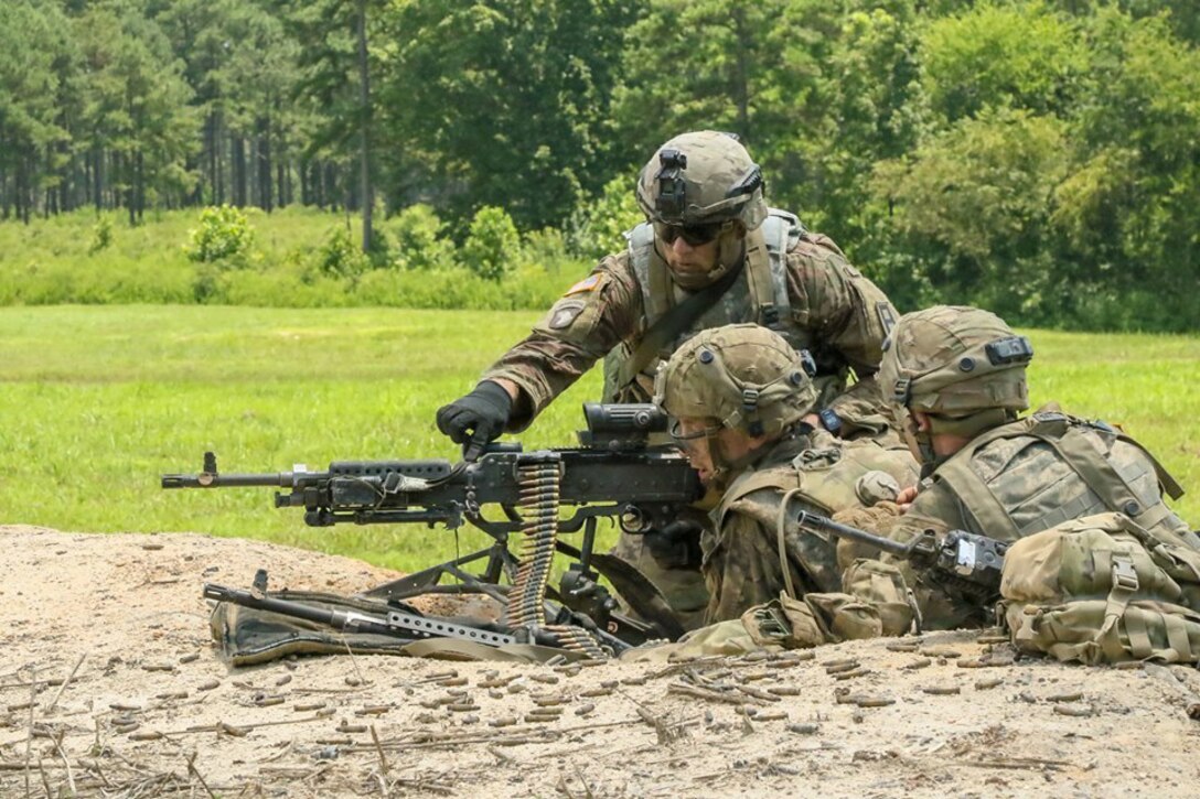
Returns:
[[[526,334],[535,312],[215,306],[0,308],[0,522],[198,530],[412,570],[482,540],[415,525],[306,528],[271,489],[162,491],[205,450],[226,471],[331,459],[454,459],[438,405]],[[1200,338],[1031,331],[1034,403],[1122,423],[1193,494],[1200,519]],[[589,373],[522,438],[568,445]],[[248,578],[248,576],[247,576]]]

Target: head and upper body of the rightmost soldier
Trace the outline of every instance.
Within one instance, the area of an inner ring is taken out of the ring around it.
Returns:
[[[1200,548],[1163,501],[1182,488],[1154,457],[1100,421],[1028,408],[1027,338],[986,311],[941,306],[906,314],[888,341],[881,388],[908,447],[922,463],[907,511],[888,535],[967,530],[1018,539],[1105,511],[1124,513],[1152,534]],[[844,553],[845,554],[845,553]],[[908,575],[926,627],[990,623],[953,585]]]

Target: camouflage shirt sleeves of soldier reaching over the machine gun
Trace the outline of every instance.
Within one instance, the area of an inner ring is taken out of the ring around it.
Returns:
[[[643,239],[649,227],[649,223],[638,226],[630,239]],[[755,300],[762,289],[751,286],[756,270],[750,262],[757,259],[754,252],[766,248],[761,230],[751,230],[746,242],[750,253],[746,264],[724,301],[709,308],[678,341],[664,347],[659,359],[668,358],[700,330],[769,322],[767,326],[778,328],[788,343],[798,350],[808,349],[816,360],[815,382],[826,400],[820,407],[834,410],[850,428],[847,432],[856,426],[880,431],[887,421],[881,415],[882,398],[874,374],[888,325],[895,318],[887,296],[850,265],[832,240],[804,232],[796,235],[782,262],[786,287],[780,298],[782,307],[766,307]],[[568,289],[524,341],[484,373],[484,380],[511,380],[528,398],[528,404],[514,408],[509,432],[528,427],[554,397],[610,350],[636,348],[654,319],[689,296],[671,282],[667,266],[656,253],[652,257],[648,284],[638,280],[632,262],[630,251],[601,260],[587,278]],[[774,288],[772,293],[776,294]],[[659,307],[649,308],[647,300]],[[652,361],[620,400],[649,401],[659,362]],[[851,370],[858,382],[845,390]]]

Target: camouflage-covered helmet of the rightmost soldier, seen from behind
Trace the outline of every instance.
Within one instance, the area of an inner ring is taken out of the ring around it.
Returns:
[[[1030,340],[996,314],[943,305],[900,318],[883,343],[877,379],[896,420],[917,438],[923,465],[934,465],[932,434],[972,438],[1030,407],[1032,358]],[[928,433],[916,432],[913,410],[930,415]]]

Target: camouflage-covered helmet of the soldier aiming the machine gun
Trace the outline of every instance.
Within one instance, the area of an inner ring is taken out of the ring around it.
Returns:
[[[815,371],[808,352],[772,330],[712,328],[659,368],[654,402],[676,419],[715,419],[721,427],[778,438],[812,410]]]

